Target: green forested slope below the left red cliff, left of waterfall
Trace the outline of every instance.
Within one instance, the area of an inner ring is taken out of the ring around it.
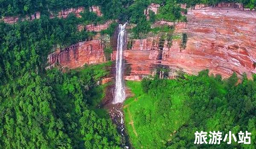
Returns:
[[[26,72],[1,86],[0,148],[119,148],[111,120],[89,109],[95,82],[110,65],[65,74],[52,69],[45,77]]]

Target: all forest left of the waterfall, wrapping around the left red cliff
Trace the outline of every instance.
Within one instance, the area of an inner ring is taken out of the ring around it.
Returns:
[[[56,2],[59,7],[46,1],[0,3],[2,16],[43,12],[38,20],[13,25],[0,22],[2,149],[102,149],[120,148],[122,144],[112,121],[94,112],[95,101],[100,101],[104,92],[96,82],[108,75],[111,63],[66,73],[45,69],[50,52],[90,40],[95,34],[79,32],[79,23],[105,20],[89,11],[81,18],[70,14],[66,19],[49,19],[43,3],[56,10],[75,7],[73,1],[62,2]]]

